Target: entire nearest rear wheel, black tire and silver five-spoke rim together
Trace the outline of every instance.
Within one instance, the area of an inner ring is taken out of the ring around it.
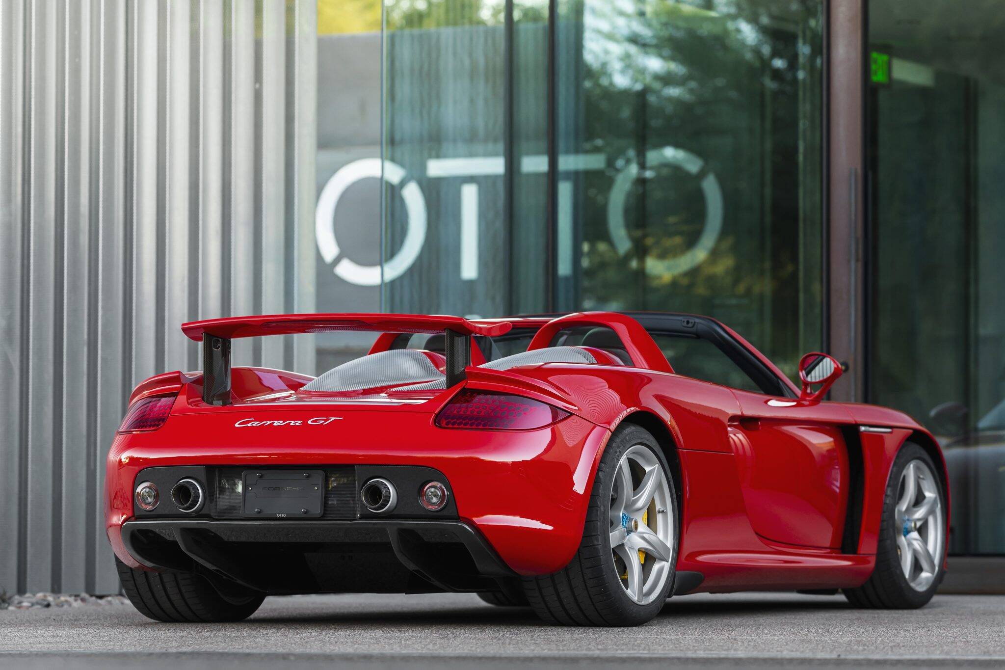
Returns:
[[[563,570],[524,580],[546,621],[637,626],[663,607],[677,557],[677,505],[655,438],[622,425],[597,467],[579,550]]]

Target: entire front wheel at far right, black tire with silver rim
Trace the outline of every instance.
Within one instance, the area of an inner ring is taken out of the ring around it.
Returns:
[[[890,610],[926,605],[942,583],[946,556],[946,493],[932,457],[907,443],[890,468],[868,581],[844,596],[855,607]]]

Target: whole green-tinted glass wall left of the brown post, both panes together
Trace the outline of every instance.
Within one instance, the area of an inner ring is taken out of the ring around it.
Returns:
[[[384,303],[822,345],[822,3],[386,3]],[[389,178],[388,178],[389,177]]]

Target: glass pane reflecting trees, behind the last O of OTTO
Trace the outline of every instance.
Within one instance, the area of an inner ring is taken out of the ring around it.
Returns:
[[[560,309],[821,347],[822,3],[559,0]]]

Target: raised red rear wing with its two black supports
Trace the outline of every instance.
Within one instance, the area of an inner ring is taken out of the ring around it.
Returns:
[[[202,399],[209,405],[230,404],[230,341],[303,332],[371,331],[443,332],[446,339],[446,386],[463,381],[471,365],[470,336],[494,337],[509,331],[509,321],[475,323],[440,314],[266,314],[227,316],[182,323],[182,332],[202,343]]]

